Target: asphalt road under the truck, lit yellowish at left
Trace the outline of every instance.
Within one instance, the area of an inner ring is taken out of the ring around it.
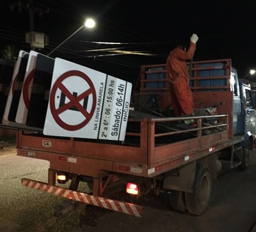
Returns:
[[[148,204],[142,218],[92,207],[54,217],[64,199],[20,183],[21,178],[46,182],[48,167],[46,161],[15,156],[15,149],[0,152],[1,232],[247,232],[256,222],[256,152],[251,153],[246,171],[226,169],[213,182],[209,208],[200,217],[176,212],[164,199],[151,197],[144,199]]]

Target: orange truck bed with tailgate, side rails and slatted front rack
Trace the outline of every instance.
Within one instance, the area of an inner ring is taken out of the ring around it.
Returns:
[[[236,98],[240,105],[234,104],[231,69],[230,59],[193,62],[194,107],[216,107],[218,115],[160,117],[155,108],[168,109],[171,102],[165,64],[146,65],[141,68],[140,92],[132,97],[136,111],[129,111],[123,142],[19,131],[18,155],[48,160],[54,170],[94,177],[104,172],[152,177],[208,156],[244,140],[241,130],[234,130],[241,120],[233,114],[234,106],[240,114],[241,99]],[[148,109],[156,114],[148,115]],[[187,119],[194,119],[196,126],[185,124]],[[218,123],[208,123],[211,119]]]

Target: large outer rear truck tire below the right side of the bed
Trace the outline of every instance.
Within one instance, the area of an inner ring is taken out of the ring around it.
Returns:
[[[194,181],[194,192],[185,192],[187,210],[191,214],[202,215],[209,204],[211,176],[205,164],[198,163]]]

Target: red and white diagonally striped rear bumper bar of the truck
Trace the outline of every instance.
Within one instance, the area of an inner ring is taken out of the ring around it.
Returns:
[[[90,194],[72,191],[58,186],[48,185],[46,183],[33,181],[32,179],[27,178],[22,179],[22,185],[32,189],[37,189],[40,191],[51,193],[56,196],[61,196],[71,200],[80,201],[86,204],[95,205],[97,207],[105,208],[108,210],[113,210],[136,217],[142,216],[142,207],[137,204],[122,202],[119,200],[113,200],[99,196],[92,196]]]

